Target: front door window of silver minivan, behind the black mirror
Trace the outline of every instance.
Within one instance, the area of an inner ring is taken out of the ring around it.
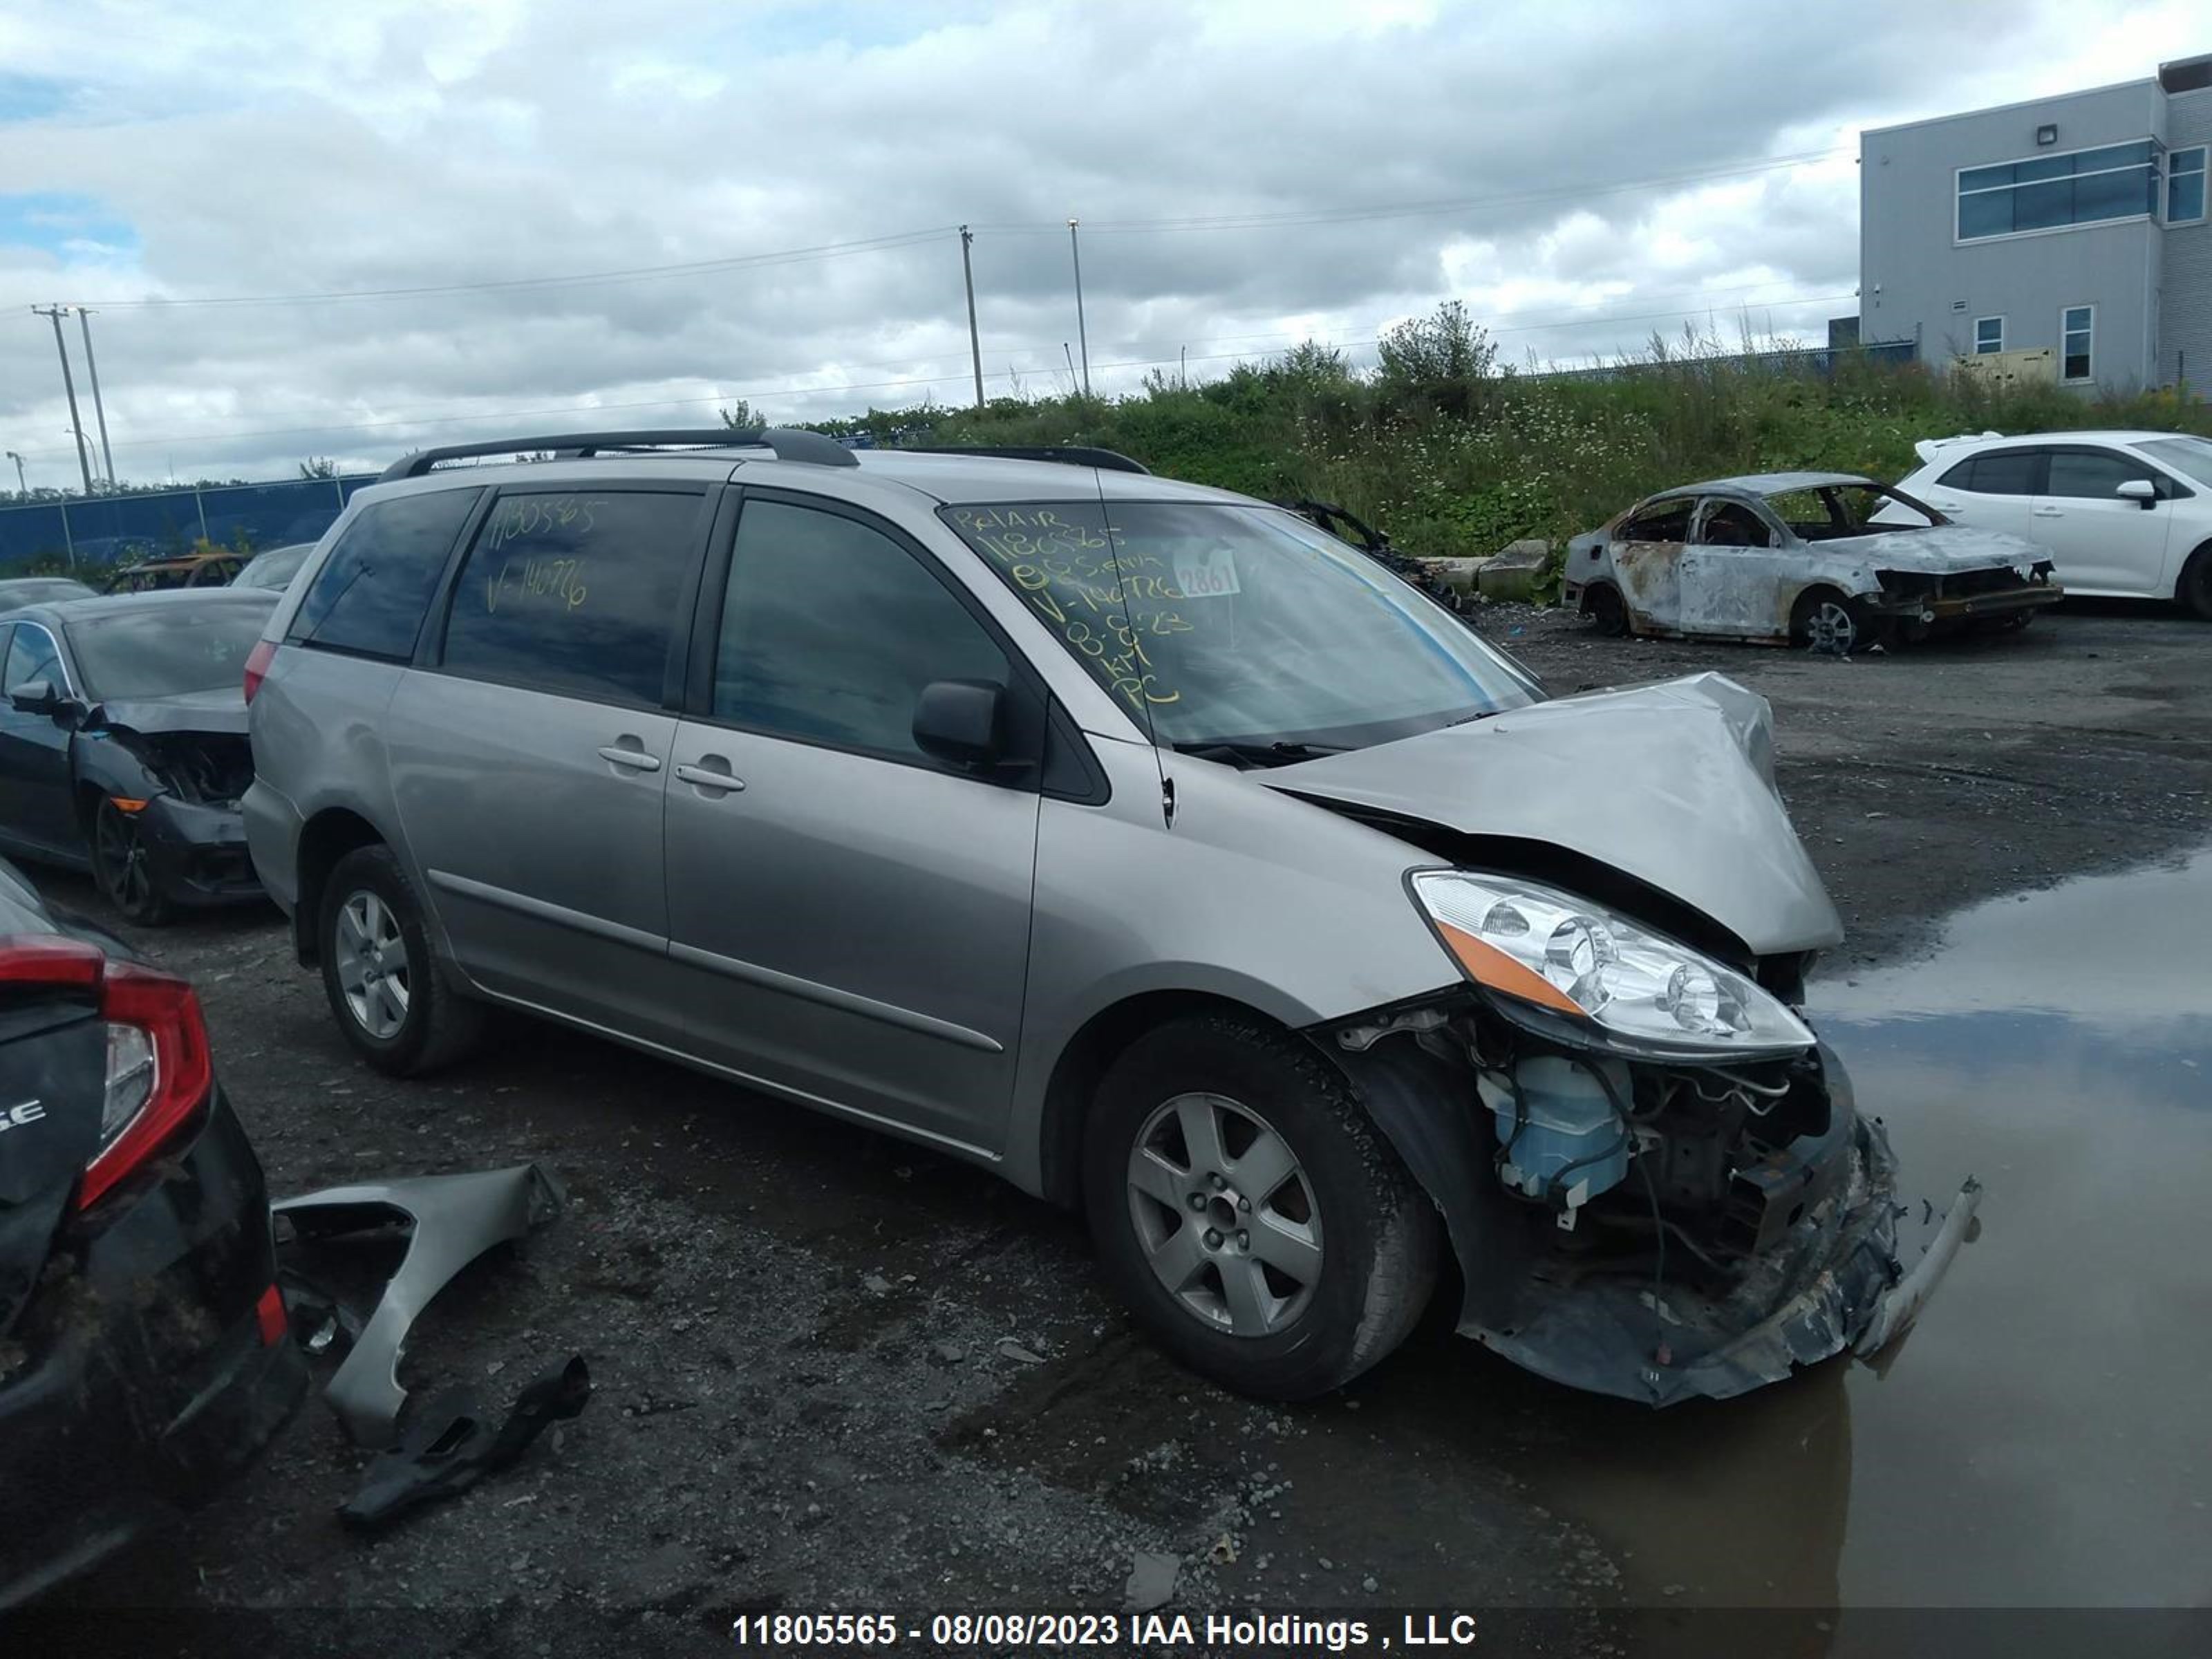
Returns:
[[[914,703],[933,679],[1006,686],[1011,670],[920,560],[836,513],[745,504],[714,650],[719,719],[918,761]]]

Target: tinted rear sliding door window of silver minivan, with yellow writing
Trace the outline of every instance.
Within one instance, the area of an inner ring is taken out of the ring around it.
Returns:
[[[453,584],[447,670],[659,706],[690,617],[699,507],[644,491],[500,495]]]

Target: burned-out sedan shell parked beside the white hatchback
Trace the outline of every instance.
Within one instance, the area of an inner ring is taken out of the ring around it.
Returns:
[[[1661,491],[1577,535],[1564,597],[1606,633],[1849,653],[2017,628],[2064,595],[2044,549],[2017,535],[1851,473],[1756,473]]]

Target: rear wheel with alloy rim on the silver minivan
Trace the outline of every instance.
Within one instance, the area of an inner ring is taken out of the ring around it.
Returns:
[[[476,1044],[482,1009],[431,951],[420,900],[389,847],[358,847],[330,872],[319,942],[338,1031],[378,1071],[414,1077]]]

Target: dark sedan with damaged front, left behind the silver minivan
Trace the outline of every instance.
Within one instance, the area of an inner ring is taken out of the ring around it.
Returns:
[[[274,604],[215,588],[0,617],[0,854],[88,869],[142,925],[257,898],[243,677]]]

